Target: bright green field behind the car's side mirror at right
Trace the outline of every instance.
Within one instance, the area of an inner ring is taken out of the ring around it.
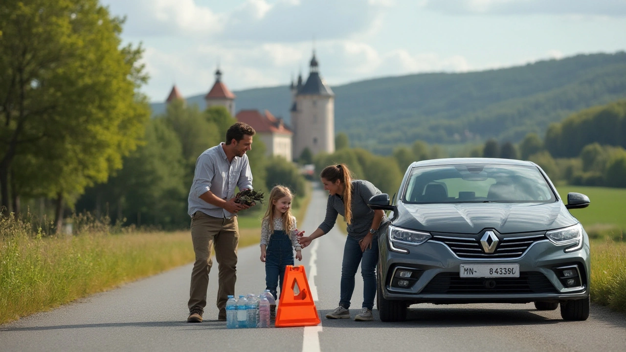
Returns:
[[[599,227],[617,227],[626,229],[626,217],[622,199],[626,199],[626,189],[607,187],[563,186],[557,187],[558,193],[567,203],[569,192],[578,192],[589,197],[591,204],[584,209],[572,209],[572,215],[580,220],[587,232]]]

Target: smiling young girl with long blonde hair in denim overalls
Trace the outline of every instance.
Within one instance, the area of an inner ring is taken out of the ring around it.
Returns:
[[[280,294],[282,295],[282,280],[285,267],[294,265],[295,257],[302,261],[302,251],[298,243],[298,233],[295,226],[295,217],[291,215],[291,191],[281,185],[274,186],[270,192],[269,207],[263,217],[261,225],[261,261],[265,262],[265,289],[269,289],[277,298],[276,291],[280,279]],[[270,306],[270,316],[275,316],[276,305]]]

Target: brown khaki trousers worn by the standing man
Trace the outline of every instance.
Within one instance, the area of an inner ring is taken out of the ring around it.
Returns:
[[[237,245],[239,226],[237,217],[230,219],[212,217],[203,212],[195,212],[192,217],[192,241],[195,262],[192,270],[192,283],[189,291],[189,310],[204,311],[207,306],[208,274],[213,266],[211,251],[215,248],[218,263],[217,308],[218,318],[226,318],[226,301],[229,294],[235,294],[237,281]]]

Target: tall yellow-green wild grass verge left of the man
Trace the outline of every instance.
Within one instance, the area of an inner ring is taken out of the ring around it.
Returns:
[[[193,261],[187,231],[112,234],[99,224],[44,236],[31,225],[0,218],[0,324]]]

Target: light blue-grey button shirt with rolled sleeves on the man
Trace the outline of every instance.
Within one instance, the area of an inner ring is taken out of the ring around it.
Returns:
[[[252,189],[252,172],[250,172],[248,155],[234,157],[232,162],[228,162],[223,144],[208,148],[196,160],[193,184],[187,199],[190,216],[200,211],[212,217],[230,219],[235,214],[208,204],[200,199],[200,195],[210,190],[217,197],[228,200],[235,197],[235,187],[239,187],[240,190]]]

